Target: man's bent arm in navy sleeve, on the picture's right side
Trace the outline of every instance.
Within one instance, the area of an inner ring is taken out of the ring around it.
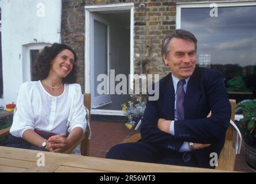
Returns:
[[[231,117],[231,106],[219,72],[212,75],[205,89],[212,115],[195,120],[175,121],[175,137],[178,140],[206,144],[214,143],[225,136]]]

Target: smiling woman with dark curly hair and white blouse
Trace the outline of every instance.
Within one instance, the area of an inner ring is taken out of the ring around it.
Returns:
[[[33,70],[39,81],[25,82],[18,91],[7,147],[62,152],[82,136],[86,110],[76,66],[76,53],[67,45],[44,47]]]

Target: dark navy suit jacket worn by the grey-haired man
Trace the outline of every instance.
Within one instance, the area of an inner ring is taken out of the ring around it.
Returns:
[[[156,85],[153,85],[156,86]],[[223,77],[219,71],[196,67],[187,83],[185,120],[175,121],[175,136],[157,128],[159,118],[174,120],[174,85],[171,73],[159,81],[159,99],[148,101],[141,124],[141,137],[161,149],[179,151],[184,141],[209,143],[209,147],[194,151],[199,167],[208,167],[211,152],[219,156],[231,117]],[[212,116],[206,118],[212,110]]]

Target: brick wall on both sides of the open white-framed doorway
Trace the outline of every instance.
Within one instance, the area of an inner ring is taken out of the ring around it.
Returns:
[[[113,3],[134,3],[134,70],[140,72],[138,62],[140,47],[143,47],[143,58],[150,59],[147,65],[150,74],[160,77],[170,72],[161,59],[161,40],[165,34],[175,29],[175,2],[172,0],[62,0],[62,43],[70,45],[78,54],[78,83],[84,89],[84,24],[85,5]],[[140,9],[139,3],[146,5]],[[86,40],[85,40],[86,41]],[[151,50],[151,51],[150,51]],[[150,55],[149,55],[150,52]]]

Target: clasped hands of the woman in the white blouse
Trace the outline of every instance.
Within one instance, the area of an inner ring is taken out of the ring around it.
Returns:
[[[70,147],[70,141],[66,138],[66,133],[61,133],[48,139],[48,147],[51,152],[62,152]]]

